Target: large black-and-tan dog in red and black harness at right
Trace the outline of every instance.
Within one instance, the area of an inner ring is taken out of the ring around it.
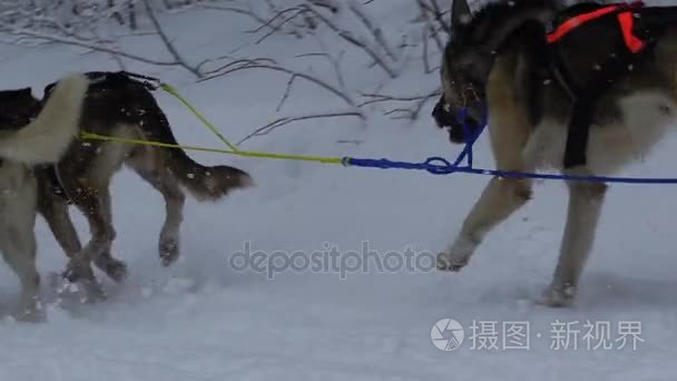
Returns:
[[[450,115],[465,106],[467,121],[471,129],[477,128],[485,105],[499,170],[557,169],[568,175],[607,176],[637,155],[649,153],[676,121],[677,22],[665,22],[651,55],[600,94],[591,107],[587,159],[582,165],[566,166],[573,104],[567,81],[558,80],[548,66],[544,36],[551,22],[602,6],[560,7],[543,0],[517,0],[492,3],[472,14],[467,0],[453,0],[452,37],[441,68],[443,96],[433,116],[439,126],[451,127],[452,141],[462,141],[462,125]],[[641,17],[637,20],[644,22]],[[622,48],[616,18],[600,18],[569,32],[559,46],[560,57],[573,81],[585,85],[598,63],[618,51],[618,41]],[[531,198],[531,186],[526,177],[492,178],[455,241],[439,254],[438,267],[463,268],[484,236]],[[542,301],[550,306],[567,306],[576,299],[607,190],[606,184],[578,179],[567,186],[566,228]]]

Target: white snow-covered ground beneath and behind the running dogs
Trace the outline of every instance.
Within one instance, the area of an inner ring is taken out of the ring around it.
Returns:
[[[383,9],[383,20],[405,1],[392,3]],[[283,37],[252,45],[253,37],[242,32],[247,21],[224,13],[168,16],[163,21],[174,26],[173,33],[195,56],[215,47],[241,47],[238,55],[292,59],[308,50],[302,41]],[[67,71],[117,69],[104,55],[11,46],[0,47],[0,67],[1,88],[35,86],[37,96]],[[287,80],[251,71],[195,84],[180,70],[130,69],[175,85],[235,140],[276,117]],[[373,71],[347,72],[353,84],[379,80]],[[426,80],[412,76],[408,86],[423,91],[434,85]],[[333,107],[333,99],[304,89],[296,89],[285,111]],[[176,99],[160,92],[157,97],[179,141],[218,147]],[[354,119],[313,120],[243,147],[416,162],[453,157],[460,147],[448,143],[428,114],[414,124],[375,113],[367,126]],[[677,176],[670,152],[675,144],[670,137],[624,174]],[[156,254],[163,201],[136,175],[120,172],[112,188],[115,253],[127,262],[129,279],[117,285],[100,275],[110,294],[107,302],[50,304],[42,324],[1,321],[0,380],[667,381],[677,375],[677,195],[669,185],[611,186],[580,299],[571,309],[552,310],[532,300],[550,281],[558,254],[567,196],[561,183],[539,184],[534,199],[489,235],[468,268],[448,274],[430,270],[430,253],[453,238],[485,177],[190,155],[205,164],[241,167],[257,186],[217,204],[189,199],[183,257],[164,268]],[[475,156],[478,164],[491,167],[485,137]],[[72,216],[86,240],[84,218],[75,211]],[[45,293],[53,301],[50,274],[66,261],[42,219],[37,232]],[[350,252],[361,253],[365,245],[375,253],[369,254],[366,271],[305,266],[266,274],[241,268],[247,247],[276,257],[335,247],[338,264],[345,261],[350,267],[355,258]],[[387,255],[392,252],[399,255]],[[389,262],[392,271],[377,267],[377,258],[408,255],[420,260],[418,267],[396,262]],[[17,292],[13,274],[1,265],[0,315],[7,316]],[[461,348],[441,351],[431,341],[442,319],[464,328]],[[473,322],[481,326],[478,338]],[[591,335],[586,335],[588,322],[598,328]],[[529,328],[530,340],[507,342],[521,343],[521,349],[503,348],[503,338],[512,338],[506,333],[519,326]],[[625,349],[615,341],[626,329],[640,330],[636,349],[631,336]],[[599,346],[606,333],[610,348]],[[561,334],[570,341],[562,342]],[[497,348],[491,348],[492,340]]]

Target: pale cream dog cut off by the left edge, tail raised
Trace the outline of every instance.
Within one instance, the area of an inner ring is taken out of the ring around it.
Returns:
[[[0,250],[21,283],[20,320],[39,320],[40,275],[36,267],[37,180],[31,166],[60,158],[78,130],[88,80],[73,75],[57,85],[37,118],[0,118]],[[16,91],[0,91],[10,104]],[[8,115],[8,114],[6,114]]]

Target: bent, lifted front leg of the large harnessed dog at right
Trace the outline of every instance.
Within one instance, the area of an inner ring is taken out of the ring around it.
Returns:
[[[438,268],[444,271],[463,268],[484,235],[530,198],[530,179],[492,178],[465,217],[461,233],[454,243],[438,255]]]

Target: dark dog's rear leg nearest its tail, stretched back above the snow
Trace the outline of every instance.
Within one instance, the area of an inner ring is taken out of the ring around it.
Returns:
[[[179,256],[179,229],[184,221],[184,195],[175,175],[159,165],[163,153],[147,149],[135,153],[126,163],[141,178],[157,189],[165,199],[165,223],[160,231],[158,254],[163,265],[173,264]]]

